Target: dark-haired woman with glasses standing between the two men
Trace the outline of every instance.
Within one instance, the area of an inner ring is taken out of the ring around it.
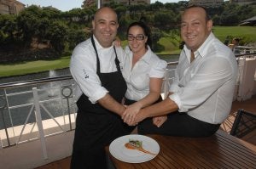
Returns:
[[[161,86],[166,70],[166,61],[160,59],[150,49],[150,30],[143,22],[134,22],[127,30],[128,46],[125,48],[123,76],[127,84],[125,93],[125,122],[132,121],[137,112],[160,100]],[[158,118],[155,117],[154,124]]]

